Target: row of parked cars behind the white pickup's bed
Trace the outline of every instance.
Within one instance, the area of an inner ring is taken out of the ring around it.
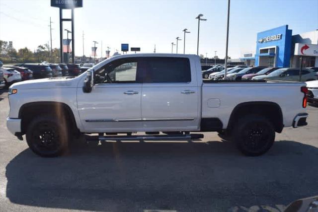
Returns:
[[[202,71],[203,78],[210,80],[224,79],[225,68],[214,66],[206,71]],[[304,68],[273,68],[273,67],[244,67],[228,66],[227,80],[283,80],[283,81],[312,81],[318,79],[318,67]]]

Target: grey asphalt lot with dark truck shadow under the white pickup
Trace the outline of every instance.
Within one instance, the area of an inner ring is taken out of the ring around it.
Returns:
[[[309,125],[284,129],[268,153],[243,156],[232,142],[103,143],[41,158],[5,125],[0,90],[0,211],[283,211],[318,195],[318,107]]]

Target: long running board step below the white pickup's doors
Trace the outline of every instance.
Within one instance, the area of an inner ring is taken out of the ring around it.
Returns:
[[[141,135],[141,136],[88,136],[88,140],[99,141],[191,141],[203,139],[203,134],[175,134],[175,135]]]

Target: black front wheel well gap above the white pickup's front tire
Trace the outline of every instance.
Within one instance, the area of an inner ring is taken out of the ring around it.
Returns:
[[[76,125],[74,114],[67,104],[61,102],[31,102],[22,105],[19,110],[22,135],[25,134],[27,126],[34,117],[46,114],[52,114],[58,118],[65,117],[71,125],[70,130],[73,132],[79,131]]]

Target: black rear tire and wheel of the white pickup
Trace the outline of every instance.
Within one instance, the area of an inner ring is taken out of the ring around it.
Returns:
[[[247,156],[267,152],[275,141],[273,124],[263,116],[247,115],[234,126],[233,138],[239,150]]]

